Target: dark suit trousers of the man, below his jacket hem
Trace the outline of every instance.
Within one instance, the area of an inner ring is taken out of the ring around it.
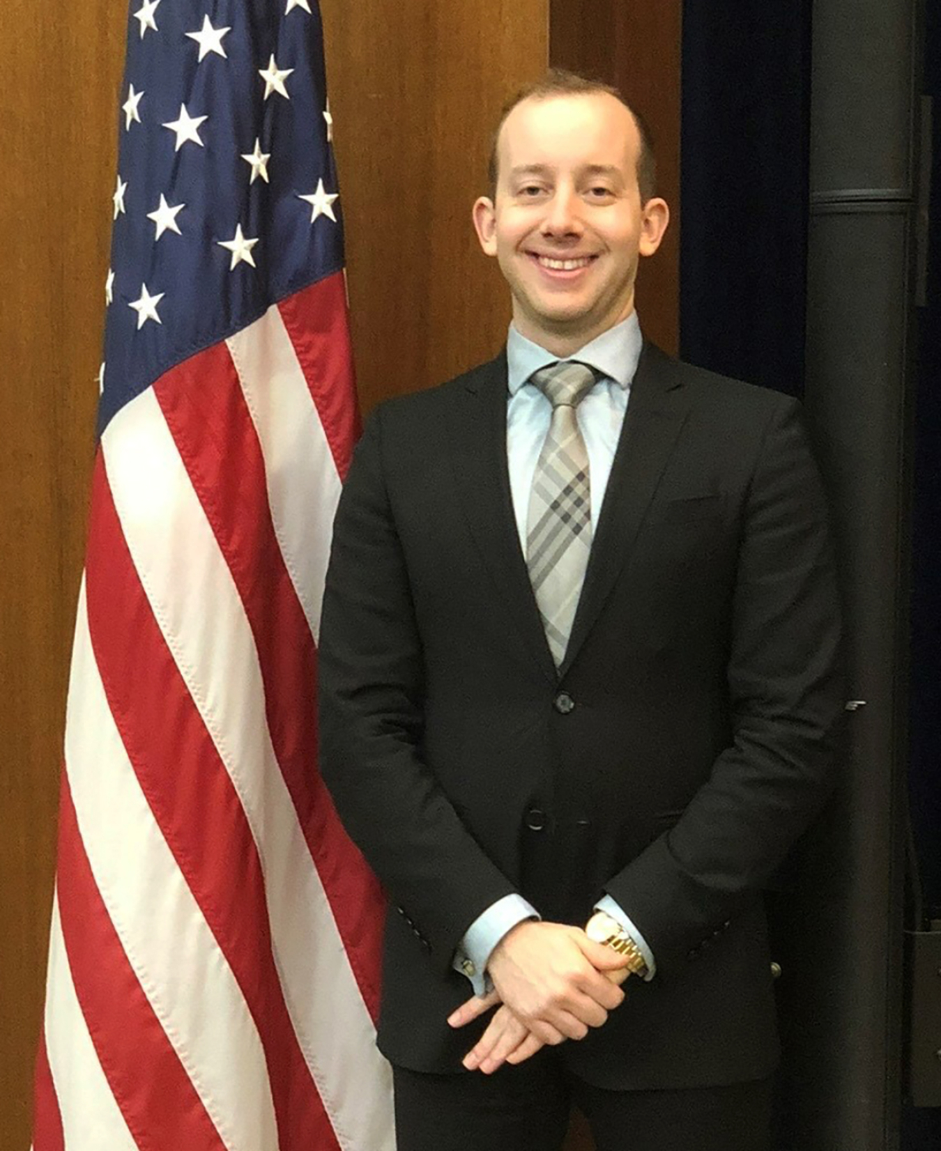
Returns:
[[[494,1075],[395,1076],[397,1151],[560,1151],[572,1103],[597,1151],[769,1151],[772,1081],[609,1091],[552,1050]]]

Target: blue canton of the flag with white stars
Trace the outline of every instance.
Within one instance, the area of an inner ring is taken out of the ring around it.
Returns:
[[[286,5],[132,13],[99,433],[168,367],[343,266],[320,15]]]

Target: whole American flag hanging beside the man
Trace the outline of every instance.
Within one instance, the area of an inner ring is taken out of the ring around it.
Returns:
[[[36,1151],[390,1151],[318,776],[357,429],[316,0],[134,0]]]

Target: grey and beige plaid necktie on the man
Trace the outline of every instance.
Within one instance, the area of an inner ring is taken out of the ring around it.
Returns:
[[[589,455],[575,409],[594,384],[585,364],[559,363],[532,375],[552,421],[530,494],[526,565],[557,668],[566,655],[591,550]]]

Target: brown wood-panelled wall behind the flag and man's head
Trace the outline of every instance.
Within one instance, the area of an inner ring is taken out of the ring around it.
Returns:
[[[613,0],[321,7],[367,411],[496,350],[509,300],[470,222],[490,129],[551,52],[623,82],[637,17],[633,3],[622,13]],[[657,13],[658,67],[642,62],[647,79],[637,71],[638,87],[624,86],[654,124],[670,197],[661,110],[673,107],[678,20]],[[0,6],[0,1146],[10,1149],[29,1146],[126,20],[121,0],[83,0],[67,17],[56,0]],[[675,259],[668,250],[657,261],[642,307],[647,330],[670,346]]]

